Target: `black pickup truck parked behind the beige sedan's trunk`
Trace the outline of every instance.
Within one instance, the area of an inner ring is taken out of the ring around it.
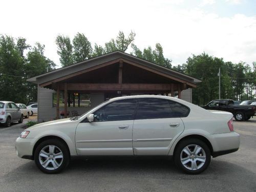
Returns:
[[[256,107],[252,105],[234,105],[234,101],[231,99],[212,100],[201,107],[207,110],[230,112],[237,121],[249,120],[256,111]]]

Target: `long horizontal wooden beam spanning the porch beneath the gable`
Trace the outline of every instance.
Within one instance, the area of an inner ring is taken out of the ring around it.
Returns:
[[[63,84],[60,90],[65,89]],[[169,91],[170,84],[154,83],[67,83],[67,89],[73,91]]]

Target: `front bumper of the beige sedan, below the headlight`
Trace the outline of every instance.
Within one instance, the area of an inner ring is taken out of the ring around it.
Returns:
[[[20,138],[15,141],[15,150],[17,156],[24,159],[33,160],[33,139],[32,138]]]

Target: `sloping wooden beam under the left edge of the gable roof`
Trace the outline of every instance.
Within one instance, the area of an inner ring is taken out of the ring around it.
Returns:
[[[94,67],[91,67],[89,69],[84,69],[84,70],[78,71],[76,73],[72,73],[72,74],[69,74],[69,75],[66,75],[66,76],[63,76],[63,77],[59,77],[57,79],[54,79],[54,80],[51,80],[51,81],[48,81],[48,82],[45,82],[45,83],[41,83],[41,84],[39,84],[39,86],[40,87],[49,86],[50,84],[52,84],[54,82],[62,81],[62,80],[65,80],[65,79],[69,79],[69,78],[81,75],[83,73],[87,73],[87,72],[90,72],[90,71],[93,71],[93,70],[96,70],[96,69],[99,69],[99,68],[102,68],[102,67],[106,67],[106,66],[112,65],[112,64],[117,63],[119,61],[120,61],[120,58],[112,60],[112,61],[109,61],[109,62],[105,62],[105,63],[103,63],[101,65],[94,66]]]

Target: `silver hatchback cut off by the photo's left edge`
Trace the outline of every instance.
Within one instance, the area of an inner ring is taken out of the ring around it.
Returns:
[[[0,101],[0,123],[11,126],[12,122],[23,122],[23,114],[18,106],[11,101]]]

